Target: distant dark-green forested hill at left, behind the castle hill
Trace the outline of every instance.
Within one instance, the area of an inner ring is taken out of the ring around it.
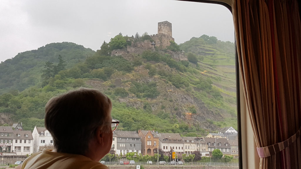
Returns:
[[[71,68],[94,53],[92,49],[70,42],[51,43],[37,50],[19,53],[0,64],[0,94],[41,85],[41,70],[45,62],[57,64],[59,55],[64,56],[66,68]]]

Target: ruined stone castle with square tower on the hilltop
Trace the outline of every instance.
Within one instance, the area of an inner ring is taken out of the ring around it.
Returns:
[[[150,35],[150,40],[144,41],[134,41],[133,37],[129,37],[127,42],[130,42],[131,45],[128,45],[127,48],[113,50],[111,56],[124,56],[126,54],[141,54],[145,50],[155,51],[155,47],[160,47],[162,49],[170,45],[170,41],[175,41],[172,37],[172,24],[168,21],[163,21],[158,23],[158,33]],[[171,57],[177,60],[187,60],[187,57],[184,56],[182,52],[168,52]]]

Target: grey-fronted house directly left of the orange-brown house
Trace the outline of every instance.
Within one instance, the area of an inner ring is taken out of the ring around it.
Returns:
[[[141,138],[136,131],[114,131],[116,134],[116,154],[126,155],[128,152],[141,153]]]

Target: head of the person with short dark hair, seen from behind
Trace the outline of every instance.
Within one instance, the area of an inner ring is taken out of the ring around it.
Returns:
[[[85,155],[97,133],[110,136],[111,109],[111,100],[95,89],[80,88],[50,99],[45,127],[57,152]]]

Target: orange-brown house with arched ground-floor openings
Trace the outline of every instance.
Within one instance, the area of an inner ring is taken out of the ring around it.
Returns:
[[[154,130],[139,130],[138,135],[141,137],[141,154],[154,155],[159,147],[159,137],[157,132]]]

